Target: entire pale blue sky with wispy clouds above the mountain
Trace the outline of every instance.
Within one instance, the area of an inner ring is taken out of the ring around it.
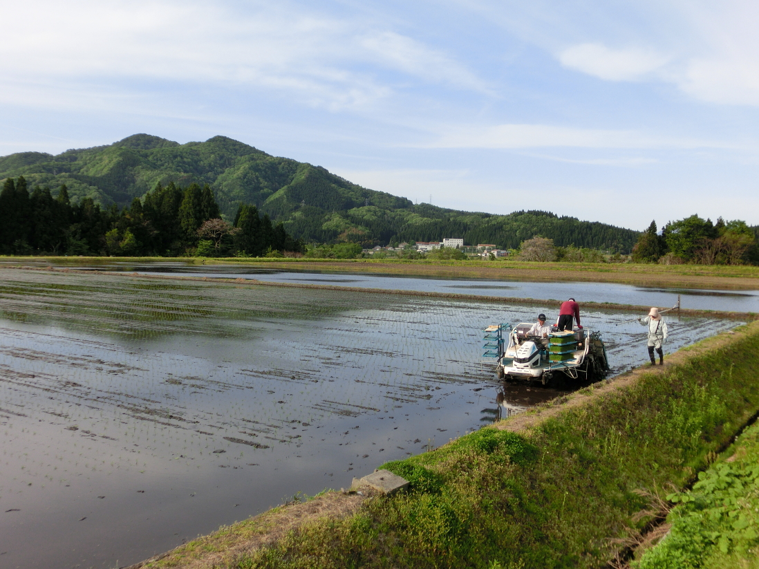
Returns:
[[[751,0],[0,0],[0,155],[216,135],[418,203],[759,225]]]

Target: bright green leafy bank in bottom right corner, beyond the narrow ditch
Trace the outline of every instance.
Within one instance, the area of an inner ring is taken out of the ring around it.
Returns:
[[[759,567],[759,423],[754,423],[699,473],[676,502],[666,539],[645,552],[635,569],[756,569]],[[663,531],[658,532],[664,534]]]

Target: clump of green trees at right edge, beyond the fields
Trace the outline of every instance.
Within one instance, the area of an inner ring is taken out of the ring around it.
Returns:
[[[669,222],[657,230],[654,220],[632,250],[635,262],[700,265],[757,265],[759,240],[756,228],[735,219],[712,223],[698,215]]]

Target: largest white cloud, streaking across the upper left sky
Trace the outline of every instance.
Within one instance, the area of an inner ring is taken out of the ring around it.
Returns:
[[[252,2],[18,2],[0,42],[6,83],[118,81],[128,92],[145,81],[216,84],[286,93],[307,105],[372,108],[392,96],[402,71],[422,83],[483,90],[453,58],[382,24],[314,13],[301,5]],[[6,94],[12,96],[12,94]]]

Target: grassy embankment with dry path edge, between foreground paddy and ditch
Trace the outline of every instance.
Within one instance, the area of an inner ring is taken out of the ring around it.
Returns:
[[[604,567],[657,517],[654,497],[690,483],[756,413],[756,369],[759,322],[387,464],[408,494],[266,544],[235,539],[262,532],[266,514],[145,566]]]

